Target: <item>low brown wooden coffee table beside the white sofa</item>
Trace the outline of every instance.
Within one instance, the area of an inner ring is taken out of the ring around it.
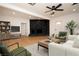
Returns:
[[[39,41],[38,42],[38,50],[39,50],[39,46],[48,49],[48,44],[51,43],[51,42],[60,43],[60,40],[59,39],[55,39],[53,41],[49,41],[48,39],[46,39],[46,40]]]

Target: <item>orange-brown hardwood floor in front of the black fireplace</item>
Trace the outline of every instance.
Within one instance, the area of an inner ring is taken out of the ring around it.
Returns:
[[[10,45],[13,44],[15,42],[19,43],[19,46],[28,46],[28,45],[32,45],[35,43],[38,43],[38,41],[40,40],[45,40],[47,39],[48,36],[30,36],[30,37],[22,37],[20,39],[10,39],[10,40],[6,40],[3,41],[6,45]]]

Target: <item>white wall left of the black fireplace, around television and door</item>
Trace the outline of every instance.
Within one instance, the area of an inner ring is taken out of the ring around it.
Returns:
[[[0,21],[9,21],[11,26],[20,26],[20,32],[21,33],[21,23],[26,23],[26,35],[29,35],[29,19],[28,18],[21,18],[21,17],[14,17],[14,16],[1,16],[0,15]],[[16,32],[14,32],[16,33]]]

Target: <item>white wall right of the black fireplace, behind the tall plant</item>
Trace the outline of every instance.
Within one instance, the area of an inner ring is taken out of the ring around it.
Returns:
[[[50,20],[50,35],[52,35],[53,33],[58,33],[59,31],[67,31],[65,26],[66,23],[70,20],[74,20],[79,24],[79,13],[52,18]],[[61,24],[56,24],[57,22],[61,22]],[[79,33],[79,27],[76,28],[75,33]]]

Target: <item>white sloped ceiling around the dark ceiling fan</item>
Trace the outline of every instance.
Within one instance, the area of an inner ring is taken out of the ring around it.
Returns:
[[[71,14],[74,12],[79,12],[79,4],[72,6],[72,3],[62,3],[62,6],[60,7],[61,9],[64,9],[64,11],[56,11],[54,16],[50,15],[52,12],[45,13],[45,11],[48,11],[49,9],[46,8],[46,6],[53,6],[53,5],[58,5],[59,3],[36,3],[34,6],[31,6],[28,3],[9,3],[9,4],[0,4],[0,5],[5,5],[8,8],[20,8],[16,10],[22,10],[22,11],[28,11],[26,13],[32,14],[37,17],[42,17],[42,18],[55,18],[59,17],[62,15],[66,14]],[[73,11],[73,9],[76,9],[76,11]]]

